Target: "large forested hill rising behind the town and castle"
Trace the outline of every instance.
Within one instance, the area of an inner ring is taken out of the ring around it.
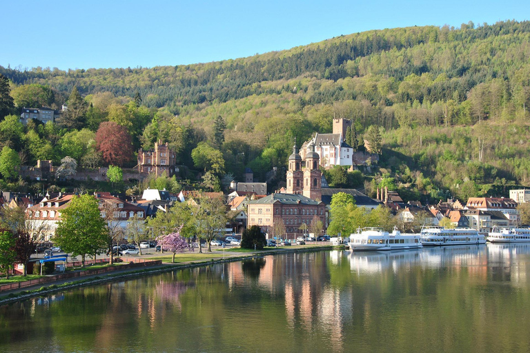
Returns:
[[[379,126],[384,172],[433,199],[529,183],[529,21],[373,30],[195,65],[68,72],[0,66],[0,74],[13,90],[52,88],[55,105],[74,87],[91,103],[104,92],[121,102],[138,92],[146,108],[159,109],[135,130],[144,147],[163,134],[159,126],[170,119],[163,112],[204,129],[204,138],[222,116],[225,158],[246,150],[244,163],[258,171],[285,162],[285,140],[329,132],[333,117],[346,117],[360,135]],[[98,121],[110,119],[104,109]]]

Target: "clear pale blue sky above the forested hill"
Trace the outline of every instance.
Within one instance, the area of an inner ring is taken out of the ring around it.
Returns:
[[[366,30],[529,17],[528,0],[0,0],[0,65],[22,70],[187,65]]]

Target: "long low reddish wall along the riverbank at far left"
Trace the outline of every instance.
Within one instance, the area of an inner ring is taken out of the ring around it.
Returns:
[[[16,290],[19,288],[27,288],[27,287],[31,287],[32,285],[39,285],[42,283],[61,281],[63,279],[72,279],[72,278],[77,278],[77,277],[90,276],[92,274],[101,274],[101,273],[110,272],[114,270],[126,270],[128,268],[141,268],[141,267],[147,267],[147,266],[161,265],[162,263],[161,260],[149,261],[146,259],[129,259],[129,258],[121,258],[121,259],[123,259],[124,262],[129,262],[128,265],[109,266],[108,268],[99,268],[97,270],[76,271],[76,272],[70,272],[70,273],[65,273],[65,274],[57,274],[55,276],[46,276],[40,279],[30,279],[29,281],[8,283],[8,284],[0,285],[0,292],[6,291],[6,290]],[[108,260],[105,260],[105,261],[104,259],[100,259],[100,260],[97,260],[97,262],[98,263],[108,262]],[[86,263],[87,261],[85,261],[85,264]],[[68,267],[71,267],[71,266],[69,265]]]

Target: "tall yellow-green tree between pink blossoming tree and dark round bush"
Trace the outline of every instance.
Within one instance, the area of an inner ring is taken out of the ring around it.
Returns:
[[[220,197],[210,198],[200,195],[195,199],[197,206],[193,218],[197,224],[197,240],[199,241],[199,252],[202,252],[200,239],[204,238],[208,244],[208,252],[212,251],[211,241],[224,230],[226,226],[226,207]]]

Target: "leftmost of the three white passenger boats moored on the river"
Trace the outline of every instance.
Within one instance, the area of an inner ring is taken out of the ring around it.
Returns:
[[[389,233],[382,228],[366,227],[350,235],[351,250],[406,250],[422,248],[419,234],[401,234],[394,228]]]

